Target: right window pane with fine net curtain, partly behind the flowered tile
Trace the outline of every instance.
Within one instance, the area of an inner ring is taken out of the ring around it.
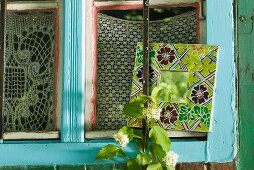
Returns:
[[[155,15],[156,10],[157,16],[151,17],[150,22],[150,42],[197,43],[195,8],[182,8],[179,13],[152,9],[151,13]],[[130,100],[136,45],[143,37],[140,20],[142,10],[110,10],[98,14],[97,130],[114,130],[127,123],[122,106]]]

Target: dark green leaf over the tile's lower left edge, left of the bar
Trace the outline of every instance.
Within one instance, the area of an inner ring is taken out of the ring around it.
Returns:
[[[144,118],[143,115],[144,104],[140,104],[139,102],[131,102],[124,105],[123,112],[132,118],[142,119]]]

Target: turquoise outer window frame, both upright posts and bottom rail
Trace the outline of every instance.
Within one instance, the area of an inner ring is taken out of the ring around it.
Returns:
[[[229,162],[236,154],[232,3],[207,0],[207,43],[220,46],[213,127],[206,141],[173,140],[172,149],[180,155],[180,162]],[[85,1],[65,0],[63,5],[61,141],[4,141],[0,144],[0,165],[92,164],[97,151],[113,142],[84,139],[85,35],[81,35]],[[127,149],[131,152],[132,148]]]

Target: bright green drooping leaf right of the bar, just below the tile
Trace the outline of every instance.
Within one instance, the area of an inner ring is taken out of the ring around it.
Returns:
[[[168,138],[167,132],[163,128],[159,126],[153,126],[149,132],[149,137],[156,144],[160,145],[165,152],[169,151],[171,142]]]

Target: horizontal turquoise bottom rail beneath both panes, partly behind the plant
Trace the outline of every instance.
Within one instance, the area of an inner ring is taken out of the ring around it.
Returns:
[[[96,153],[109,140],[86,143],[34,143],[0,145],[0,165],[62,165],[97,164],[113,161],[95,161]],[[181,162],[205,161],[206,142],[177,141],[173,149],[181,155]],[[127,148],[130,156],[135,154],[134,146]],[[181,149],[180,149],[181,148]],[[4,154],[3,154],[4,153]],[[117,160],[123,162],[123,160]]]

